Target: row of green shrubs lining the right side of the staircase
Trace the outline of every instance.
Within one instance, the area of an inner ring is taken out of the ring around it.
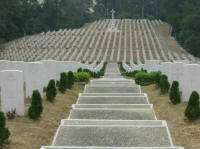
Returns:
[[[173,104],[179,104],[181,102],[181,95],[179,90],[179,82],[173,81],[170,87],[168,82],[168,77],[161,72],[151,72],[148,73],[146,70],[126,72],[123,66],[120,64],[120,71],[122,75],[135,78],[136,84],[146,86],[151,84],[156,84],[160,88],[162,94],[169,92],[169,99]],[[191,93],[188,105],[184,111],[185,116],[190,119],[197,119],[200,117],[200,103],[199,94],[196,91]]]

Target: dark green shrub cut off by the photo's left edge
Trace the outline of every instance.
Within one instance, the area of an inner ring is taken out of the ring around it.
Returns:
[[[0,112],[0,148],[5,140],[10,136],[10,131],[6,128],[6,118],[3,112]]]

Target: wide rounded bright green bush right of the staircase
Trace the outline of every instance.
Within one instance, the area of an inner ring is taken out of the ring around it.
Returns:
[[[139,85],[146,86],[153,84],[154,80],[151,74],[146,72],[138,72],[135,75],[135,82]]]

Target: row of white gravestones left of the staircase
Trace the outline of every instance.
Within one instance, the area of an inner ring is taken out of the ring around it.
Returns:
[[[16,110],[16,114],[24,115],[24,83],[25,95],[31,97],[33,90],[38,90],[43,96],[43,87],[51,79],[59,80],[60,73],[66,71],[76,72],[78,68],[87,68],[99,71],[103,63],[98,66],[85,65],[74,61],[41,62],[11,62],[0,61],[0,88],[2,111],[7,113]]]

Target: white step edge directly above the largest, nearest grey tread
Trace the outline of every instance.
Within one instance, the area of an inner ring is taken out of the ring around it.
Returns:
[[[131,125],[131,126],[166,126],[166,121],[161,120],[84,120],[64,119],[61,125]]]

